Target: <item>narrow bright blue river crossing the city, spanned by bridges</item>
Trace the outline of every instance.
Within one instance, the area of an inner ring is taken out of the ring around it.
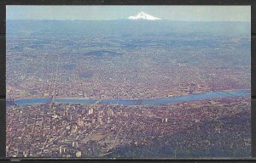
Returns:
[[[236,91],[218,91],[209,93],[189,94],[171,98],[156,98],[143,100],[125,100],[125,99],[64,99],[56,98],[55,103],[69,103],[69,104],[123,104],[123,105],[154,105],[154,104],[177,104],[182,102],[191,102],[202,99],[212,98],[230,98],[230,97],[246,97],[250,96],[250,90],[236,90]],[[19,99],[15,104],[44,104],[51,102],[50,98],[34,98],[34,99]]]

